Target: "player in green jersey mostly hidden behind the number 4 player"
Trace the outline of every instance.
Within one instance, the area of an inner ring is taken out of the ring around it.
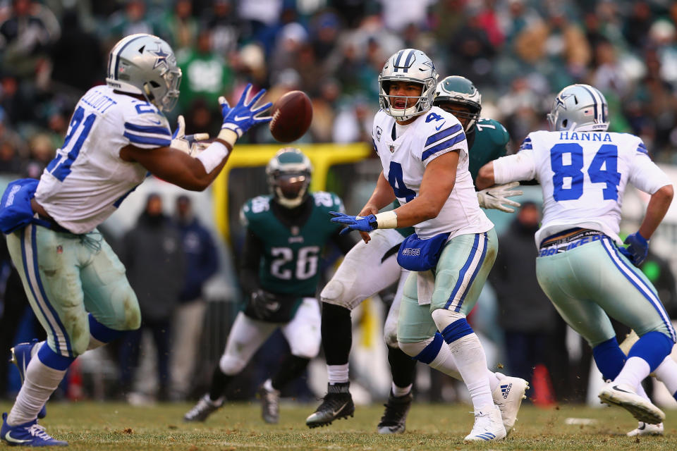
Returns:
[[[470,80],[456,75],[445,78],[437,84],[432,103],[452,113],[463,125],[470,146],[468,162],[473,180],[484,163],[506,154],[508,132],[498,121],[480,118],[482,96]],[[382,129],[377,128],[377,140],[383,133]],[[518,184],[513,183],[505,187],[492,187],[491,191],[477,192],[480,206],[513,211],[510,206],[519,204],[506,197],[522,194],[521,191],[511,190],[516,185]],[[399,203],[396,201],[395,207],[397,206]],[[308,417],[308,426],[331,424],[334,419],[353,413],[354,404],[348,390],[348,354],[352,336],[350,311],[367,297],[399,280],[398,290],[384,326],[393,382],[377,430],[379,433],[405,431],[406,417],[413,400],[411,388],[415,378],[416,360],[400,350],[397,344],[398,311],[409,271],[397,264],[396,252],[404,238],[412,233],[413,228],[374,230],[370,233],[371,240],[368,244],[359,242],[348,252],[334,277],[322,290],[322,344],[327,358],[329,385],[322,404]],[[362,276],[356,278],[355,274]],[[366,274],[370,276],[365,276]],[[501,373],[494,373],[494,376],[490,378],[492,395],[496,405],[501,408],[504,426],[509,432],[516,421],[527,382]],[[508,396],[504,398],[506,392]]]

